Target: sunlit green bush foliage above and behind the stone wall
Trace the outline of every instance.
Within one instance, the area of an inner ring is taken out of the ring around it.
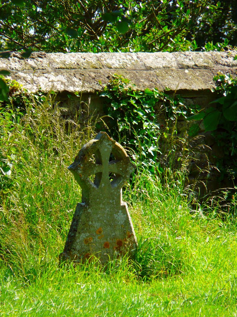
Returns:
[[[23,57],[31,50],[194,50],[205,45],[197,25],[220,16],[220,2],[214,0],[8,0],[0,4],[0,45],[23,50]]]

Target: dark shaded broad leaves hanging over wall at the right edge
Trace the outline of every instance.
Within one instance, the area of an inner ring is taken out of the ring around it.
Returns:
[[[205,132],[211,131],[224,152],[222,160],[217,161],[217,167],[222,172],[222,178],[228,172],[237,180],[237,78],[229,74],[218,74],[214,77],[220,98],[213,101],[215,107],[208,107],[192,115],[188,120],[197,120],[199,124],[193,124],[196,130],[190,130],[190,135],[200,132],[201,123],[204,124]]]

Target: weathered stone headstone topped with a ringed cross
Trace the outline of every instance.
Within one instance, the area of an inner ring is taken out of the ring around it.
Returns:
[[[85,144],[68,167],[82,188],[59,262],[85,262],[96,257],[101,264],[114,256],[133,256],[137,239],[122,187],[135,166],[124,148],[100,132]]]

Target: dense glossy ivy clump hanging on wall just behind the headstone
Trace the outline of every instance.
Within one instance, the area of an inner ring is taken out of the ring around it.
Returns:
[[[156,161],[159,124],[156,121],[155,103],[158,92],[146,89],[145,92],[132,90],[130,81],[114,75],[100,96],[107,97],[107,115],[110,133],[115,137],[119,131],[121,141],[129,138],[134,149],[141,149],[143,164],[152,166]]]

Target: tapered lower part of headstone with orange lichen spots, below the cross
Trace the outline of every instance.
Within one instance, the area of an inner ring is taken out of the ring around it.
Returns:
[[[113,217],[111,210],[104,212],[103,219],[101,214],[94,216],[93,222],[88,223],[90,208],[77,204],[64,251],[59,255],[60,263],[84,263],[95,258],[103,265],[120,256],[134,257],[137,240],[127,204],[122,202],[119,213]]]

